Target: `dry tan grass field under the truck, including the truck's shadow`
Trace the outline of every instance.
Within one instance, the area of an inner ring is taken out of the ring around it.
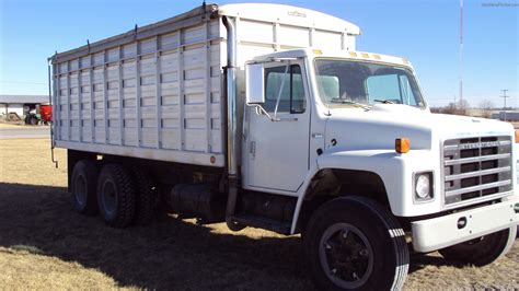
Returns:
[[[0,140],[0,289],[312,290],[298,236],[164,217],[116,230],[77,214],[66,152],[48,139]],[[518,289],[519,243],[495,264],[462,267],[412,255],[405,289]]]

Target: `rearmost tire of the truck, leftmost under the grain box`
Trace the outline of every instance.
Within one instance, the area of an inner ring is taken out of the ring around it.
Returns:
[[[97,214],[97,167],[95,163],[88,160],[77,162],[70,183],[76,210],[81,214]]]

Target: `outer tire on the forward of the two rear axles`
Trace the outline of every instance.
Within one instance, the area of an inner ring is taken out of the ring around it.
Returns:
[[[119,164],[104,165],[97,182],[97,201],[106,224],[114,228],[130,225],[136,208],[131,172]]]

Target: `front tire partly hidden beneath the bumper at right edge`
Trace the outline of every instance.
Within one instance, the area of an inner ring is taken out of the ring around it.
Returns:
[[[446,259],[464,265],[485,266],[510,251],[516,226],[438,251]]]

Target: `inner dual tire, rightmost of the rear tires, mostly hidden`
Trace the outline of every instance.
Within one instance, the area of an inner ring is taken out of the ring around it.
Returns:
[[[157,218],[159,191],[148,173],[136,166],[131,168],[131,172],[137,184],[135,223],[147,225]]]

